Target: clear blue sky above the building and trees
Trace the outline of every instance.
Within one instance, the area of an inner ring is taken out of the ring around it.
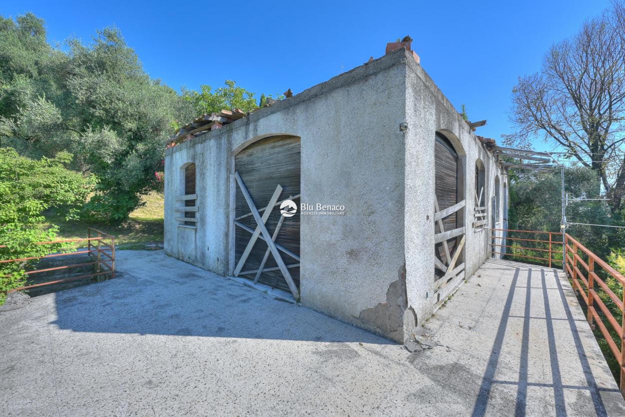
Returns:
[[[294,93],[384,54],[409,34],[421,65],[477,134],[509,133],[511,89],[552,43],[574,34],[609,1],[66,2],[0,1],[0,14],[32,11],[48,40],[115,25],[153,78],[179,89],[225,79],[258,94]],[[536,143],[538,149],[546,145]],[[550,147],[549,147],[550,148]]]

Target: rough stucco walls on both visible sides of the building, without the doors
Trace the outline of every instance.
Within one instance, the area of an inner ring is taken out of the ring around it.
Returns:
[[[404,122],[407,131],[399,128]],[[434,133],[441,129],[466,154],[471,274],[488,245],[488,232],[472,229],[475,160],[486,166],[486,201],[497,168],[404,50],[168,149],[166,253],[231,274],[234,155],[267,136],[299,136],[301,202],[346,206],[345,216],[301,216],[302,304],[403,341],[434,308]],[[174,221],[174,207],[183,205],[175,200],[182,194],[181,166],[189,162],[197,173],[195,230]]]

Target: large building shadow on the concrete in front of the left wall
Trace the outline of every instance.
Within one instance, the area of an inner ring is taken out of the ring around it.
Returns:
[[[120,251],[118,271],[119,278],[55,294],[53,324],[79,332],[394,344],[163,251]]]

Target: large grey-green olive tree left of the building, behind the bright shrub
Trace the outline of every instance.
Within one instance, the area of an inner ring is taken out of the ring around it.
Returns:
[[[66,46],[31,13],[0,18],[0,142],[32,158],[73,153],[71,168],[97,179],[84,214],[122,220],[158,188],[164,141],[192,104],[151,79],[116,28]]]

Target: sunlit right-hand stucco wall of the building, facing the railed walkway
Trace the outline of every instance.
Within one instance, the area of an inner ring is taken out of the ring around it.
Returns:
[[[459,154],[464,170],[464,263],[468,278],[489,257],[489,231],[473,228],[476,160],[484,163],[486,204],[490,224],[490,201],[494,178],[507,181],[494,156],[472,133],[468,124],[437,88],[434,81],[414,61],[406,71],[406,288],[408,304],[417,320],[429,318],[436,304],[434,296],[434,135],[449,139]],[[501,204],[502,208],[504,204]],[[500,215],[500,218],[503,218]],[[409,328],[406,327],[406,331]]]

